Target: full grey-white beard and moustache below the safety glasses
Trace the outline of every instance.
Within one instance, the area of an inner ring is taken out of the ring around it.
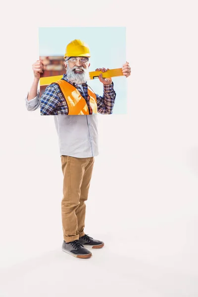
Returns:
[[[83,69],[83,73],[75,73],[74,69]],[[90,79],[89,69],[85,69],[82,66],[74,66],[72,69],[69,67],[67,62],[67,79],[75,84],[85,84]]]

